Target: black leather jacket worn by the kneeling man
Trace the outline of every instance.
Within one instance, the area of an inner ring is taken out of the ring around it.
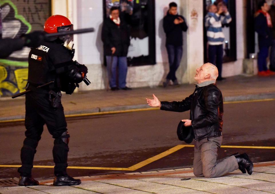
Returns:
[[[175,112],[190,110],[196,140],[222,135],[223,96],[215,84],[196,87],[194,93],[179,102],[162,101],[160,109]]]

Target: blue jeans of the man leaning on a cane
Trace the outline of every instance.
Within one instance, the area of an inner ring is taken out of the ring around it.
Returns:
[[[118,67],[118,87],[126,86],[127,57],[106,56],[107,71],[110,87],[117,87],[117,67]]]

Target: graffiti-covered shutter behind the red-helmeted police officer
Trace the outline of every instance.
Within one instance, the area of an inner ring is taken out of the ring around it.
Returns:
[[[50,15],[49,5],[49,0],[0,0],[2,38],[17,38],[23,33],[42,30]],[[0,96],[25,91],[29,52],[30,48],[24,47],[7,59],[0,59]]]

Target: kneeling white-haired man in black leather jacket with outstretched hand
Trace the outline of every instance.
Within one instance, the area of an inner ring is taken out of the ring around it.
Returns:
[[[217,160],[217,148],[222,143],[223,97],[215,82],[218,69],[212,63],[205,63],[196,70],[195,91],[180,102],[160,102],[146,99],[149,106],[161,110],[184,112],[190,110],[190,119],[183,119],[184,126],[192,126],[195,138],[194,175],[214,178],[240,169],[242,173],[252,174],[253,163],[246,153],[235,153]]]

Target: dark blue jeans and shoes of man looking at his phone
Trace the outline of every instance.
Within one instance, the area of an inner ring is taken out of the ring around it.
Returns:
[[[182,46],[166,45],[166,49],[168,53],[170,68],[166,79],[171,79],[172,81],[175,81],[177,79],[176,71],[178,69],[178,66],[180,65],[180,60],[182,57]]]

